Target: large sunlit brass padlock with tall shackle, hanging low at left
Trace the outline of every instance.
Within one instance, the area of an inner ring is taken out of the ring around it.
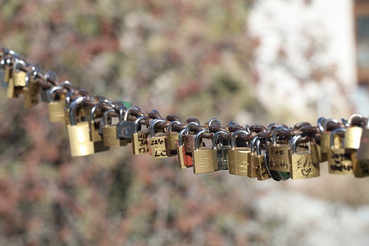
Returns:
[[[67,126],[70,153],[75,156],[86,156],[95,153],[94,143],[90,141],[88,122],[76,122],[76,108],[83,101],[78,97],[70,103],[70,125]]]

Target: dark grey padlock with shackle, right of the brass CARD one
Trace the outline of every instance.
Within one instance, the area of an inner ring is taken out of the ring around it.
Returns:
[[[223,145],[221,141],[218,141],[219,135],[228,134],[226,131],[217,131],[213,136],[213,147],[212,147],[212,157],[213,157],[213,168],[215,171],[218,170],[228,170],[228,149],[229,146]],[[219,146],[217,145],[219,144]]]

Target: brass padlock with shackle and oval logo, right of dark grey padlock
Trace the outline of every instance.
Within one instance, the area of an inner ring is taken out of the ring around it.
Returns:
[[[232,134],[230,149],[228,149],[229,174],[247,176],[247,154],[251,152],[251,149],[236,146],[236,138],[239,134],[248,134],[248,132],[239,129]]]

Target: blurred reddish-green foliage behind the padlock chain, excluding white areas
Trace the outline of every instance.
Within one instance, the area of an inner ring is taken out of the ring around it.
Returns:
[[[266,122],[249,68],[257,46],[249,4],[2,0],[0,42],[59,80],[143,111],[223,124],[247,112]],[[272,181],[194,176],[176,158],[133,156],[130,147],[71,158],[64,126],[48,122],[45,104],[0,104],[0,245],[265,245],[281,223],[260,219],[254,203]]]

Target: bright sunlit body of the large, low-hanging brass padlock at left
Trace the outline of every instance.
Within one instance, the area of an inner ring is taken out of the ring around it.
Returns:
[[[88,122],[68,125],[68,137],[71,156],[86,156],[95,153],[94,143],[90,141]]]

